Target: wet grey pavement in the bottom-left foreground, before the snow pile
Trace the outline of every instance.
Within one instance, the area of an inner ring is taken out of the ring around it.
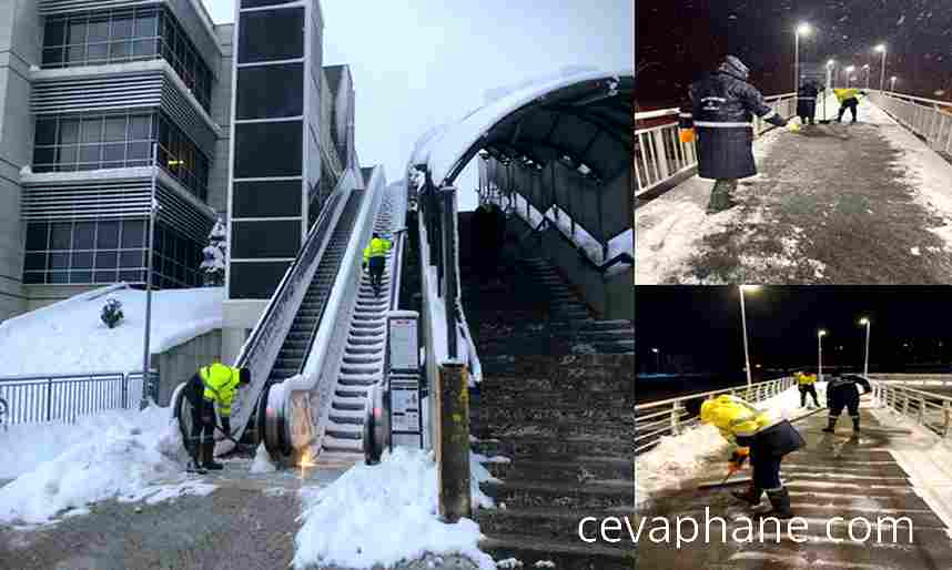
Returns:
[[[0,527],[0,569],[286,569],[300,528],[301,491],[313,492],[343,471],[253,476],[250,467],[247,459],[230,460],[221,474],[195,476],[217,486],[205,497],[156,505],[110,500],[55,525]]]

